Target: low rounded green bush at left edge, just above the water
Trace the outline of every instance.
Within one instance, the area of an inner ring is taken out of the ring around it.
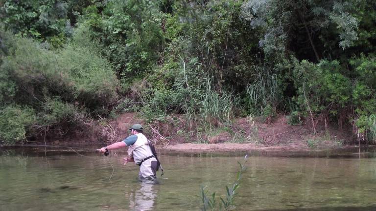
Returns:
[[[0,140],[5,144],[24,141],[36,122],[34,109],[20,105],[6,106],[0,110]]]

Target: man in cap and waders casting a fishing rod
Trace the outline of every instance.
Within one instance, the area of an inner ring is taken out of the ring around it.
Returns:
[[[123,141],[97,150],[100,152],[106,152],[110,149],[128,147],[128,157],[124,158],[124,165],[128,162],[135,162],[140,166],[140,180],[147,179],[153,181],[156,178],[156,171],[160,167],[160,162],[154,145],[142,134],[142,129],[143,128],[140,124],[133,125],[129,129],[132,134],[131,136],[128,136]]]

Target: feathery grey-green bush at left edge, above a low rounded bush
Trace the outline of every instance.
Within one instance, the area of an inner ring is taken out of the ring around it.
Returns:
[[[7,60],[1,65],[2,71],[9,72],[19,89],[15,100],[23,104],[33,104],[43,99],[44,89],[64,95],[70,92],[67,72],[61,71],[56,53],[44,49],[31,39],[15,40],[9,50]]]

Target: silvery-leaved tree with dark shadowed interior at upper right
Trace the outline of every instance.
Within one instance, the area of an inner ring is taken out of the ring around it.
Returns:
[[[251,26],[264,29],[259,43],[266,54],[274,58],[295,54],[300,60],[319,62],[335,55],[330,51],[349,48],[358,40],[359,19],[353,15],[358,4],[336,0],[249,0],[243,8]]]

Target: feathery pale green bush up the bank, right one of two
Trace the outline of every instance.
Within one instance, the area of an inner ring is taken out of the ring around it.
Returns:
[[[99,113],[103,106],[114,103],[118,79],[104,58],[80,46],[67,46],[58,56],[62,72],[69,75],[75,100]]]

